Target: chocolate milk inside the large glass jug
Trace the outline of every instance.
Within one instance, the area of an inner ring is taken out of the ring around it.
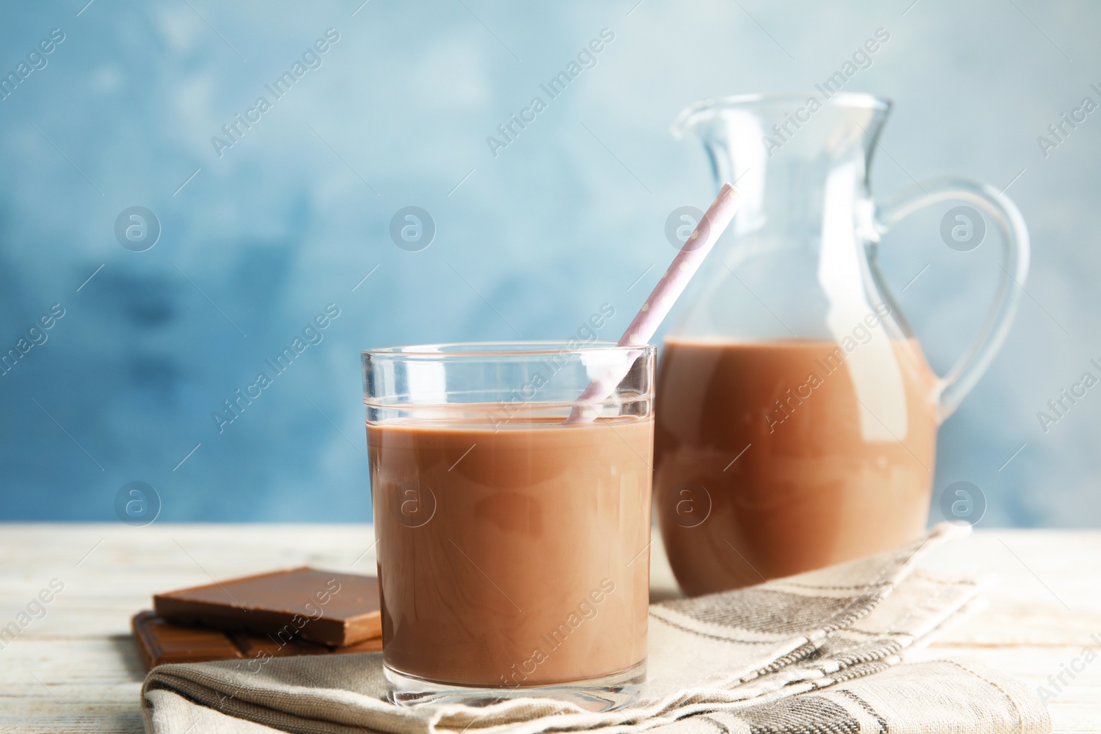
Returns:
[[[654,491],[686,593],[761,583],[922,534],[937,379],[916,340],[880,332],[852,344],[665,342]]]

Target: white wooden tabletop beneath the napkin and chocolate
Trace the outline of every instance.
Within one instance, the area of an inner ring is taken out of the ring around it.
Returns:
[[[373,574],[372,540],[367,525],[0,524],[0,628],[51,580],[64,584],[45,616],[32,605],[20,635],[0,638],[0,731],[141,732],[129,622],[154,592],[305,563]],[[652,549],[654,592],[668,595],[661,543]],[[1098,659],[1064,672],[1049,708],[1056,732],[1101,731],[1101,532],[980,532],[926,566],[1000,583],[984,612],[909,659],[973,657],[1036,687],[1092,647]]]

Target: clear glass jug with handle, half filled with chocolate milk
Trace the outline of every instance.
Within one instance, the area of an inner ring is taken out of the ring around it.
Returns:
[[[918,537],[937,428],[1009,331],[1028,270],[1020,211],[962,178],[875,202],[868,164],[890,109],[861,94],[754,95],[674,123],[743,195],[658,360],[654,493],[690,595]],[[892,224],[949,199],[970,205],[952,237],[985,226],[977,210],[1001,230],[1003,274],[982,333],[938,376],[876,253]]]

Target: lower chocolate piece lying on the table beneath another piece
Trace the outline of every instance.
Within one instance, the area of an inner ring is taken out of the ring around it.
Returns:
[[[131,621],[131,626],[138,654],[146,670],[165,662],[264,659],[295,655],[346,655],[377,653],[382,649],[381,637],[346,647],[328,647],[297,638],[281,643],[250,633],[227,635],[218,629],[185,627],[165,622],[154,612],[139,612]]]

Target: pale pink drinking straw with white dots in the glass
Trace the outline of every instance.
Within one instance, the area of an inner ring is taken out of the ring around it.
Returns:
[[[669,309],[673,308],[673,304],[684,293],[688,281],[699,270],[707,253],[711,251],[715,242],[730,226],[730,221],[734,218],[741,202],[738,189],[730,184],[723,184],[722,188],[719,189],[719,196],[708,207],[691,235],[685,240],[680,252],[673,259],[665,275],[654,286],[646,303],[642,305],[634,320],[631,321],[631,326],[620,337],[619,347],[645,344],[651,340],[654,332],[657,331],[657,327],[668,315]],[[609,368],[602,376],[590,382],[580,397],[574,402],[574,407],[570,409],[566,423],[596,420],[599,410],[592,406],[592,403],[599,403],[611,394],[637,357],[639,352],[628,352],[622,365]]]

